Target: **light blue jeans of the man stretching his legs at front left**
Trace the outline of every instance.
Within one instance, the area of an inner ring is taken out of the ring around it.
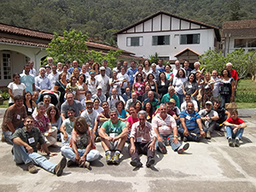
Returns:
[[[14,160],[17,164],[25,163],[28,164],[32,162],[36,166],[41,166],[47,172],[55,173],[55,164],[49,162],[44,156],[41,154],[33,152],[32,154],[28,154],[23,146],[14,144],[13,147],[14,152]]]

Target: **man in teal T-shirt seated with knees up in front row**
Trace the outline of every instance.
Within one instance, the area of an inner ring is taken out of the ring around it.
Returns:
[[[119,120],[119,113],[116,109],[109,110],[110,119],[106,121],[101,129],[99,135],[102,139],[102,148],[106,154],[107,164],[119,164],[119,155],[125,146],[125,140],[128,135],[128,129],[125,122]],[[113,157],[111,150],[114,151]]]

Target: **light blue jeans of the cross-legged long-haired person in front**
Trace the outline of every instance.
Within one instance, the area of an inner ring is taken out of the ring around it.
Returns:
[[[79,156],[83,156],[85,149],[79,149]],[[61,154],[64,155],[66,158],[75,161],[75,153],[73,151],[73,148],[70,148],[69,146],[65,145],[61,148]],[[87,161],[93,161],[93,160],[98,160],[100,157],[100,152],[98,152],[95,149],[91,149],[88,154],[86,154],[86,160]]]

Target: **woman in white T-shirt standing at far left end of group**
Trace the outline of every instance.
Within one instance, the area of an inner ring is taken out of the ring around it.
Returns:
[[[9,107],[15,103],[14,98],[15,96],[24,96],[26,85],[21,83],[20,84],[20,74],[14,73],[13,74],[13,82],[8,84],[8,92],[9,92]]]

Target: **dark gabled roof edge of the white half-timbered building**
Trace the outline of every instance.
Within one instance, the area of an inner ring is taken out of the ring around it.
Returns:
[[[206,23],[202,23],[202,22],[200,22],[200,21],[190,20],[190,19],[187,19],[187,18],[183,18],[183,17],[180,17],[180,16],[178,16],[178,15],[173,15],[173,14],[168,13],[168,12],[163,11],[163,10],[160,10],[160,11],[154,13],[153,15],[149,15],[148,17],[144,18],[143,20],[139,20],[139,21],[137,21],[136,23],[131,24],[130,26],[126,26],[125,28],[123,28],[123,29],[121,29],[121,30],[119,30],[118,32],[115,32],[115,33],[113,33],[113,34],[117,35],[117,34],[120,34],[120,33],[122,33],[122,32],[125,32],[125,31],[131,29],[132,27],[137,26],[137,25],[139,25],[139,24],[141,24],[141,23],[143,23],[143,22],[145,22],[145,21],[147,21],[147,20],[150,20],[150,19],[154,18],[154,17],[157,16],[157,15],[161,15],[161,14],[163,14],[163,15],[168,15],[168,16],[171,16],[171,17],[175,17],[175,18],[181,19],[181,20],[186,20],[186,21],[195,23],[195,24],[200,25],[200,26],[205,26],[205,27],[207,27],[207,28],[212,28],[212,29],[214,29],[214,31],[215,31],[215,34],[216,34],[217,39],[220,40],[219,28],[218,28],[217,26],[211,26],[211,25],[208,25],[208,24],[206,24]]]

